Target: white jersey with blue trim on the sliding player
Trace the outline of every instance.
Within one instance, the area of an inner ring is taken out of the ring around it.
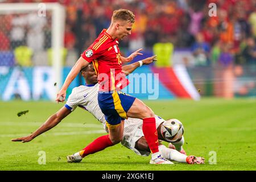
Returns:
[[[89,111],[98,121],[105,124],[105,117],[98,105],[98,84],[81,85],[72,89],[65,107],[71,111],[77,106]]]

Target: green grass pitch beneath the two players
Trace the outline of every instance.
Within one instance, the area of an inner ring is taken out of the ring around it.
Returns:
[[[0,102],[0,170],[256,170],[256,100],[145,101],[155,114],[177,118],[184,125],[184,149],[204,156],[205,164],[150,165],[150,157],[136,155],[121,144],[87,156],[81,163],[67,163],[65,156],[104,135],[100,123],[77,108],[59,125],[31,142],[11,142],[36,130],[64,104],[53,102]],[[19,111],[28,113],[18,117]],[[167,143],[164,143],[167,144]],[[39,151],[46,164],[39,164]],[[217,163],[209,164],[211,151]]]

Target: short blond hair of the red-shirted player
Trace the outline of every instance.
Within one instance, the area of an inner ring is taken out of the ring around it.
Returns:
[[[119,9],[113,12],[112,21],[125,20],[130,23],[134,23],[135,15],[130,10]]]

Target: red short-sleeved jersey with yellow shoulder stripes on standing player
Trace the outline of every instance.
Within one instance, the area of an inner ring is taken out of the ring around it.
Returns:
[[[120,90],[129,84],[125,73],[122,72],[118,44],[118,39],[112,39],[104,29],[93,44],[81,54],[86,61],[93,63],[100,91]]]

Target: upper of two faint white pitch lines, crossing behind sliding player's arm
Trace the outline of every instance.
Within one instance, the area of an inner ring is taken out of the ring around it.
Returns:
[[[0,122],[2,126],[41,126],[39,122]],[[59,123],[57,126],[62,127],[86,127],[86,128],[102,128],[101,124],[82,124],[82,123]]]

